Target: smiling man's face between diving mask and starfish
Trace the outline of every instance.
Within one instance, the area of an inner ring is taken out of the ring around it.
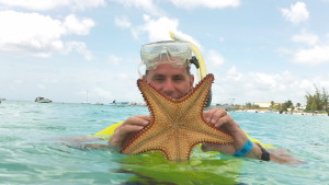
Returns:
[[[186,68],[174,68],[170,63],[160,63],[156,69],[149,70],[143,79],[172,99],[184,96],[193,88],[194,81]]]

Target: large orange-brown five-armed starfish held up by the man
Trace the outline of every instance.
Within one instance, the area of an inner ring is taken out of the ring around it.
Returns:
[[[229,143],[232,137],[205,122],[203,108],[214,81],[207,74],[185,96],[173,100],[155,88],[138,80],[137,85],[150,112],[150,123],[137,132],[121,151],[138,154],[160,151],[168,160],[190,159],[192,149],[198,143]]]

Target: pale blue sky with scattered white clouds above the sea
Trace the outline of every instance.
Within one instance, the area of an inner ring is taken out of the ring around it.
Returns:
[[[140,46],[194,43],[213,104],[329,90],[329,0],[0,0],[0,97],[143,103]],[[195,71],[193,68],[192,71]]]

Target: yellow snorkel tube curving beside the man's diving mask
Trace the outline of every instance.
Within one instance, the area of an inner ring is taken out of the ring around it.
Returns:
[[[207,69],[205,67],[204,59],[203,59],[202,54],[198,50],[198,48],[193,43],[191,43],[191,42],[189,42],[189,41],[186,41],[186,39],[184,39],[182,37],[179,37],[178,35],[174,35],[174,33],[171,32],[171,31],[169,31],[169,34],[170,34],[171,39],[181,41],[181,42],[188,42],[188,43],[191,44],[191,49],[194,53],[194,55],[195,55],[195,57],[196,57],[196,59],[198,61],[198,68],[196,68],[197,69],[196,73],[197,73],[197,80],[201,81],[203,78],[206,77]]]

